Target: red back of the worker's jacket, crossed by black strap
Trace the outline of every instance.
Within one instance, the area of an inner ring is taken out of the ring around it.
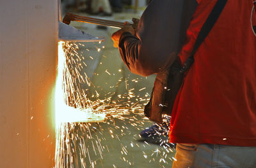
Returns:
[[[184,61],[216,1],[199,0],[179,57]],[[252,0],[227,1],[195,53],[172,115],[173,143],[256,144],[256,38]]]

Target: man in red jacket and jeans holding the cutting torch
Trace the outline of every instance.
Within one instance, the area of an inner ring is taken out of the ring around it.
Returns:
[[[188,59],[215,4],[216,0],[153,0],[141,16],[138,32],[125,24],[113,34],[114,45],[132,73],[164,73],[173,55],[182,65]],[[256,167],[252,6],[252,0],[227,1],[196,50],[172,109],[169,136],[177,143],[175,168]]]

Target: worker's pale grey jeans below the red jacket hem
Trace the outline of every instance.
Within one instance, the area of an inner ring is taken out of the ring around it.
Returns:
[[[256,146],[177,144],[172,168],[256,168]]]

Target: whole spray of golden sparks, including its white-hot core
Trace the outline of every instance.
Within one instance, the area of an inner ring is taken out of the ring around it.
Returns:
[[[134,94],[135,88],[129,88],[129,81],[137,79],[120,78],[116,85],[125,83],[127,93],[116,95],[108,92],[103,96],[97,92],[90,76],[83,72],[88,66],[81,43],[60,42],[58,48],[58,78],[56,82],[56,154],[55,167],[137,167],[138,159],[156,162],[159,167],[170,167],[173,160],[173,148],[160,140],[160,146],[148,153],[141,152],[141,158],[134,158],[138,149],[152,148],[147,141],[141,141],[138,132],[145,129],[148,119],[143,116],[143,108],[148,94]],[[104,48],[104,47],[102,47]],[[100,52],[100,48],[96,48]],[[90,50],[86,49],[87,52]],[[92,56],[88,56],[93,59]],[[106,57],[106,56],[104,56]],[[122,69],[118,69],[122,72]],[[111,75],[106,69],[105,73]],[[143,92],[145,88],[139,88]],[[113,100],[113,97],[118,100]],[[104,97],[104,99],[102,99]],[[104,120],[105,119],[105,120]],[[132,128],[132,129],[131,129]],[[157,136],[167,136],[162,133]],[[133,141],[123,143],[122,139],[132,137]],[[109,140],[110,139],[110,140]],[[118,145],[118,149],[109,144]],[[114,155],[113,151],[119,152]],[[113,157],[115,163],[109,163]],[[144,162],[144,161],[141,161]]]

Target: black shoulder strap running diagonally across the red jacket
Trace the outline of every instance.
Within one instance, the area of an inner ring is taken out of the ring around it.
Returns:
[[[202,26],[202,29],[200,30],[198,37],[196,39],[195,46],[186,60],[184,67],[180,70],[181,72],[188,71],[188,69],[192,66],[194,63],[194,54],[196,50],[199,48],[199,46],[203,43],[204,39],[208,36],[209,32],[211,31],[212,27],[220,17],[220,14],[222,10],[224,9],[225,5],[227,3],[227,0],[218,0],[217,3],[215,4],[214,8],[212,8],[212,11],[205,21],[204,25]]]

